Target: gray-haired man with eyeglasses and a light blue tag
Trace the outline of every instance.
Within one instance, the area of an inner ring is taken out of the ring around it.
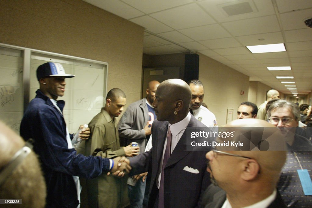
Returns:
[[[303,129],[298,127],[300,109],[295,103],[278,100],[268,109],[268,117],[270,123],[279,127],[285,135],[289,150],[278,183],[278,190],[284,203],[289,207],[312,207],[312,195],[304,191],[312,175],[312,146],[308,139],[301,136],[305,134],[302,133]],[[299,175],[304,171],[308,175],[307,181]]]

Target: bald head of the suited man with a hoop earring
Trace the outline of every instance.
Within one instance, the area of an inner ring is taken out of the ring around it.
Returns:
[[[171,124],[181,121],[188,114],[192,91],[181,79],[165,80],[157,88],[153,103],[157,120],[169,121]]]

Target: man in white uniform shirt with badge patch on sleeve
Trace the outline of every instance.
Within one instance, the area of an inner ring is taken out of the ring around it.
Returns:
[[[190,103],[190,112],[200,122],[207,127],[217,127],[216,116],[207,108],[202,106],[204,100],[204,86],[199,80],[190,80],[188,85],[192,90],[192,101]]]

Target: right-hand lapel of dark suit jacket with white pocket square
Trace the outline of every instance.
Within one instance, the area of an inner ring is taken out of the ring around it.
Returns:
[[[196,119],[191,116],[191,120],[188,123],[187,127],[196,127]],[[177,163],[179,160],[183,159],[183,157],[185,157],[188,153],[190,153],[190,151],[186,150],[186,143],[187,143],[187,130],[185,129],[185,131],[183,132],[180,140],[178,141],[177,146],[174,148],[173,152],[171,153],[168,162],[166,164],[166,167],[173,165],[175,163]]]

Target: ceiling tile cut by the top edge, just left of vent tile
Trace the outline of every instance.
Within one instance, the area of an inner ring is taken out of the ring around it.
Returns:
[[[193,0],[121,0],[138,10],[149,14],[152,12],[158,12],[164,9],[181,6],[183,4],[192,3]]]

